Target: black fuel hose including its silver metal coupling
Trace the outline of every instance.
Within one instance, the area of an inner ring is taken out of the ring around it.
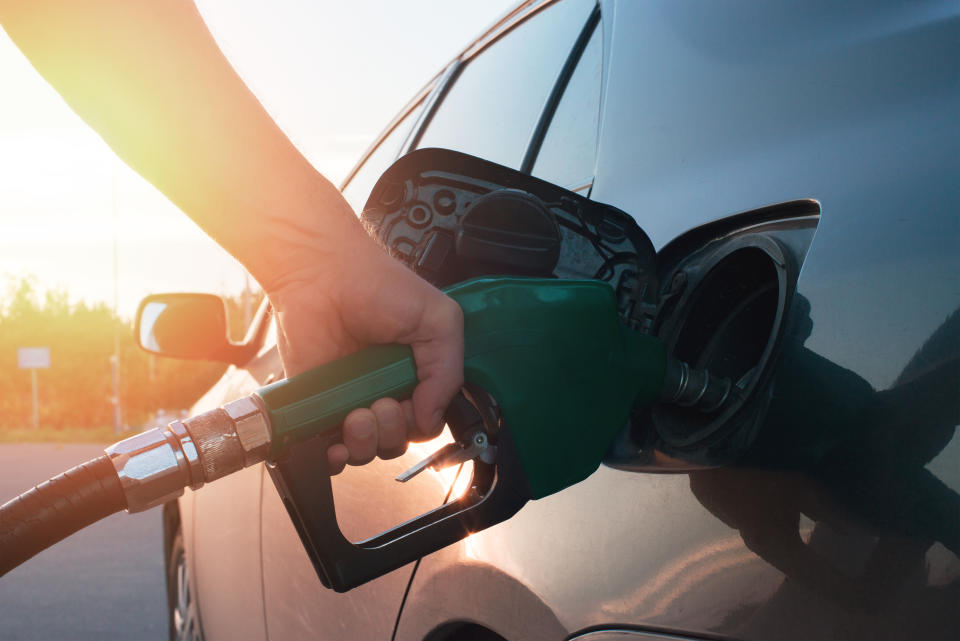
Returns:
[[[0,576],[114,512],[147,510],[263,461],[269,445],[253,396],[115,443],[0,506]]]

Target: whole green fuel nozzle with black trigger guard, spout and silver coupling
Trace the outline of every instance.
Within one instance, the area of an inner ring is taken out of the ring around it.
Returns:
[[[621,324],[607,283],[491,277],[445,291],[464,313],[466,383],[444,417],[456,443],[436,456],[474,460],[460,498],[367,541],[339,529],[327,448],[349,412],[407,398],[417,384],[410,348],[389,345],[112,446],[128,509],[267,461],[320,579],[345,591],[582,481],[636,406],[658,397],[719,406],[729,393],[728,382],[678,367],[658,339]]]

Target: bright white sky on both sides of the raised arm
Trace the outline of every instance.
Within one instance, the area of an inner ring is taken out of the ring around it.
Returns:
[[[335,183],[437,71],[515,4],[197,0],[240,76]],[[149,293],[244,287],[243,268],[117,159],[0,31],[0,292],[32,275],[75,302],[112,305],[115,235],[124,316]]]

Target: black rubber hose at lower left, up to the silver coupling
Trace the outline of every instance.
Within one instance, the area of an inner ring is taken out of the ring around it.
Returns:
[[[106,455],[0,506],[0,576],[91,523],[127,507]]]

